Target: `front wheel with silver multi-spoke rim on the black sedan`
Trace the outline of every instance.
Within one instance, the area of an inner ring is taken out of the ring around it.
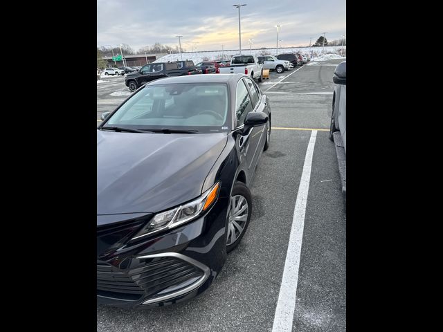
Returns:
[[[252,195],[244,183],[237,181],[234,184],[228,209],[226,252],[231,252],[242,241],[251,219]]]

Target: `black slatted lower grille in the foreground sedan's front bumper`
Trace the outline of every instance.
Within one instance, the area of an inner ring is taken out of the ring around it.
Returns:
[[[144,259],[129,270],[98,262],[97,294],[117,299],[136,300],[142,295],[168,294],[204,275],[195,265],[176,257]]]

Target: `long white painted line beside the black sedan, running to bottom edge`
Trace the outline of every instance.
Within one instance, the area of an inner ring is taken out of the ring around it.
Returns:
[[[300,254],[302,250],[303,228],[305,227],[305,212],[309,181],[311,178],[312,156],[316,144],[317,131],[311,132],[311,138],[307,145],[305,164],[303,165],[300,185],[293,210],[291,234],[289,245],[284,261],[282,283],[278,293],[277,307],[275,308],[272,332],[291,332],[293,312],[296,308],[296,293],[298,283],[298,268],[300,267]]]

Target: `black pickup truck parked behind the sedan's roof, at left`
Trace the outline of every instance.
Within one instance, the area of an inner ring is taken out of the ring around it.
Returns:
[[[145,64],[137,72],[127,73],[125,84],[130,91],[134,92],[147,82],[163,77],[182,75],[190,75],[189,69],[179,68],[176,62],[153,62],[152,64]]]

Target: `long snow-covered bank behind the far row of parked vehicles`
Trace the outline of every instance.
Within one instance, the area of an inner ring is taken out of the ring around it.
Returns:
[[[343,46],[344,52],[346,52],[346,46]],[[219,60],[219,59],[230,59],[233,55],[238,54],[238,50],[225,50],[221,52],[221,50],[211,50],[207,52],[186,52],[182,53],[183,60],[188,59],[192,60],[195,64],[202,61],[210,61],[210,60]],[[264,55],[264,53],[268,53],[271,55],[276,54],[275,48],[267,48],[266,50],[252,50],[251,52],[248,49],[242,50],[243,54],[255,54],[257,56]],[[326,61],[327,59],[341,59],[341,46],[326,46],[325,51],[323,52],[323,48],[321,47],[294,47],[294,48],[280,48],[278,54],[281,53],[300,53],[302,55],[311,55],[312,59],[316,59],[316,61]],[[156,59],[154,62],[173,62],[181,60],[180,53],[168,54],[159,59]]]

